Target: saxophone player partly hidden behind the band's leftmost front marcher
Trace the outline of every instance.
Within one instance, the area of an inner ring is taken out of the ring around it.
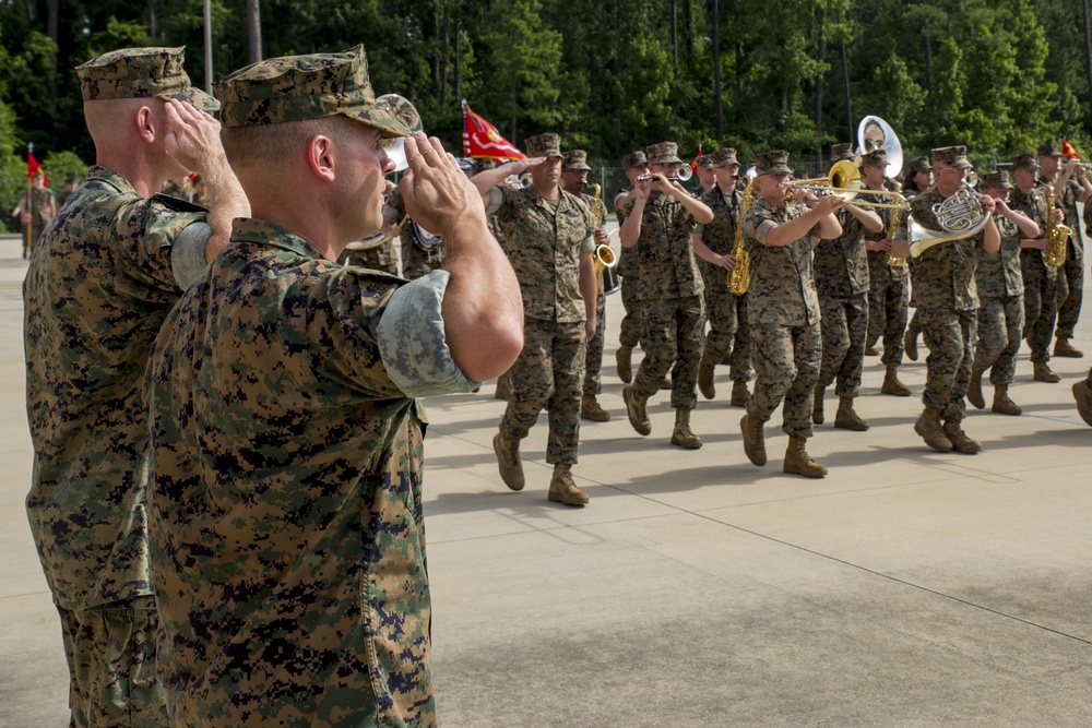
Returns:
[[[603,230],[606,224],[606,215],[603,212],[603,195],[589,194],[587,172],[592,170],[587,166],[587,153],[583,150],[570,150],[565,153],[561,160],[561,189],[569,194],[581,198],[587,204],[589,210],[595,215],[595,246],[608,246],[610,240]],[[580,398],[580,417],[593,422],[606,422],[610,419],[610,413],[604,409],[596,396],[603,391],[603,383],[600,372],[603,369],[603,336],[607,330],[607,300],[603,290],[603,276],[596,275],[595,282],[595,335],[587,339],[587,356],[584,359],[584,389]]]

